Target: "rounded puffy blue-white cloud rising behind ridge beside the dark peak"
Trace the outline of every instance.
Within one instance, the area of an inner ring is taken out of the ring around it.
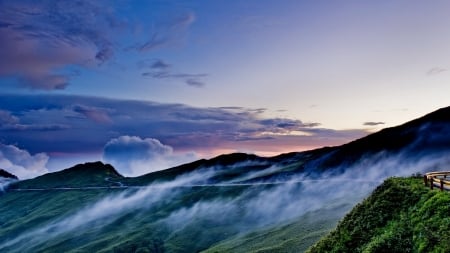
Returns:
[[[167,169],[196,159],[193,153],[174,154],[173,148],[153,138],[120,136],[106,143],[103,159],[126,176]]]

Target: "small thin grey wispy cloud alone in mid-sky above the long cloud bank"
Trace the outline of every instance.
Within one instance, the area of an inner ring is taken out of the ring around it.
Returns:
[[[147,70],[141,74],[143,77],[155,79],[178,79],[193,87],[205,86],[205,83],[201,79],[208,76],[207,74],[186,74],[174,72],[171,70],[171,65],[161,59],[141,61],[138,63],[138,66],[141,69]]]

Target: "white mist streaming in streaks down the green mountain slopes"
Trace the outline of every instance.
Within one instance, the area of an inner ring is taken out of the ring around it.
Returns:
[[[255,172],[248,171],[238,178],[208,184],[208,179],[226,172],[227,169],[255,164],[260,163],[248,161],[229,168],[203,168],[170,182],[155,183],[139,190],[113,194],[72,215],[58,218],[39,229],[24,231],[9,241],[0,242],[0,250],[6,248],[18,252],[27,251],[62,234],[82,231],[92,224],[101,228],[123,214],[144,212],[155,205],[169,203],[182,194],[182,189],[194,186],[245,185],[248,188],[238,196],[217,196],[210,200],[200,200],[190,206],[180,206],[159,220],[163,226],[176,231],[199,219],[214,217],[218,223],[228,223],[234,234],[240,234],[284,224],[320,209],[336,210],[339,215],[343,215],[386,178],[442,170],[450,164],[450,157],[445,154],[411,156],[409,152],[396,155],[380,152],[364,157],[351,167],[331,168],[320,176],[312,177],[310,171],[305,171],[285,182],[239,183],[282,168],[281,165],[274,164]]]

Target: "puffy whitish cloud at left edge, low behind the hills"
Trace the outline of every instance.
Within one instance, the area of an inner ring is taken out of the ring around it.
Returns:
[[[36,177],[48,172],[49,157],[45,153],[31,155],[14,145],[0,143],[0,168],[16,175],[19,179]]]

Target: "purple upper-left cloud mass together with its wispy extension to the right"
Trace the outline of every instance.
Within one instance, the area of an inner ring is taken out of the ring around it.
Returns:
[[[137,24],[120,11],[106,0],[0,1],[0,78],[30,89],[65,89],[74,77],[69,68],[91,69],[116,60],[116,52],[129,47],[124,37],[146,52],[183,40],[195,20],[193,13],[177,13],[166,15],[164,22]],[[153,35],[141,42],[144,38],[133,32],[136,26]],[[154,67],[162,69],[161,64]],[[201,82],[195,81],[189,82]]]

